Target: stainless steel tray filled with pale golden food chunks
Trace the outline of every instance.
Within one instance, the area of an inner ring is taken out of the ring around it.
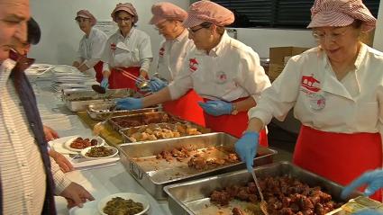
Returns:
[[[193,132],[179,132],[179,130],[181,130],[180,128],[182,128],[183,131],[187,131],[187,129],[185,128],[188,128],[188,129],[192,129],[192,130],[196,130],[198,131],[199,133],[195,133],[194,131]],[[187,137],[187,136],[193,136],[193,135],[201,135],[201,134],[206,134],[206,133],[210,133],[211,130],[210,129],[207,129],[203,126],[200,126],[200,125],[197,125],[193,122],[190,122],[190,121],[182,121],[182,120],[179,120],[179,121],[175,121],[175,122],[163,122],[163,123],[155,123],[155,124],[150,124],[150,125],[141,125],[141,126],[136,126],[136,127],[132,127],[132,128],[128,128],[128,129],[123,129],[123,130],[120,130],[120,134],[121,136],[123,136],[123,140],[125,143],[130,143],[130,142],[145,142],[145,141],[152,141],[152,139],[150,139],[149,135],[151,131],[147,131],[147,129],[153,131],[153,130],[162,130],[162,129],[166,129],[166,130],[172,130],[172,131],[176,131],[175,133],[179,133],[179,136],[180,137]],[[134,133],[136,132],[139,132],[139,133],[147,133],[149,135],[147,135],[147,139],[134,139],[133,136],[134,136]],[[154,134],[154,132],[152,132],[151,134]],[[159,140],[159,139],[173,139],[173,138],[178,138],[177,136],[172,136],[172,135],[169,135],[168,137],[164,137],[164,136],[160,136],[160,137],[155,137],[155,140]]]

